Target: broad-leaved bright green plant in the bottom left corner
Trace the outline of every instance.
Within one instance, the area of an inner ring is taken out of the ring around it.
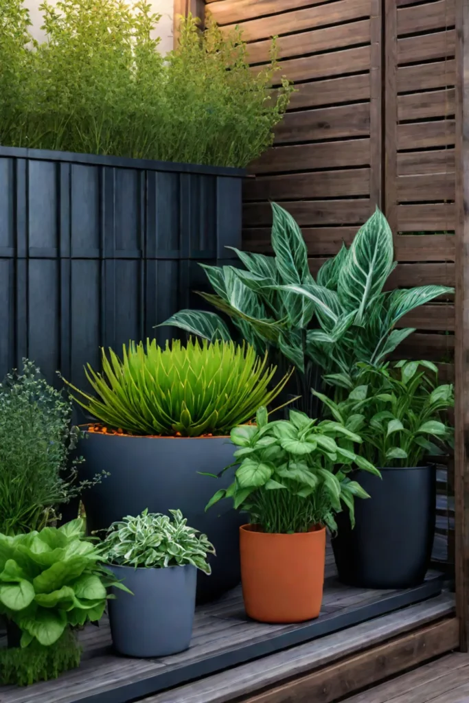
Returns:
[[[102,560],[79,519],[0,534],[0,614],[8,633],[8,647],[0,650],[2,683],[46,681],[79,665],[77,628],[98,621],[110,598],[106,589],[120,587]]]

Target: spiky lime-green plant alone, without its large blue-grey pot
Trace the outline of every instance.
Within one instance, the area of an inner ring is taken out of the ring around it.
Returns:
[[[97,397],[79,389],[75,397],[107,427],[129,434],[200,437],[229,434],[283,389],[289,374],[270,389],[276,366],[248,344],[217,340],[155,340],[123,345],[122,360],[102,351],[103,373],[88,364],[86,378]],[[70,384],[69,384],[70,385]]]

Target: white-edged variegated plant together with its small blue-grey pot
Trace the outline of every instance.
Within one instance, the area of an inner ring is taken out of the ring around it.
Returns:
[[[113,643],[129,657],[163,657],[191,642],[197,569],[210,575],[205,534],[189,527],[181,510],[172,517],[149,513],[115,522],[104,550],[109,568],[131,593],[110,603]]]

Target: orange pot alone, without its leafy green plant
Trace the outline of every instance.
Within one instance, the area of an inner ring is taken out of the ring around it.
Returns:
[[[246,613],[261,622],[302,622],[319,616],[326,528],[270,534],[240,527],[241,583]]]

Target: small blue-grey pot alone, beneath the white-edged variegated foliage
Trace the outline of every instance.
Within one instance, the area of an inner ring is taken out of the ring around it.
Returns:
[[[197,569],[110,566],[132,592],[113,588],[110,630],[117,652],[128,657],[165,657],[191,643]]]

